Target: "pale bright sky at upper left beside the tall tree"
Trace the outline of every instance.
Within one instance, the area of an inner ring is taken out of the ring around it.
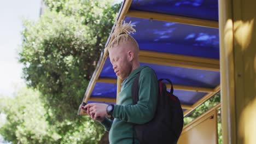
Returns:
[[[0,96],[11,97],[25,86],[18,62],[22,19],[36,21],[41,0],[0,0]]]

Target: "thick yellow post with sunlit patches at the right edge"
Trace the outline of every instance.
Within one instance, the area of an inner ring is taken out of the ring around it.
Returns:
[[[256,142],[255,5],[255,0],[219,0],[224,144]]]

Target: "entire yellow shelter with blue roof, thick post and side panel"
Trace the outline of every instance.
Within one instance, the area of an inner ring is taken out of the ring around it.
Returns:
[[[255,114],[251,115],[256,110],[253,4],[256,5],[253,0],[122,3],[114,26],[123,20],[136,25],[137,32],[131,35],[138,41],[139,62],[153,68],[158,79],[172,80],[184,116],[222,90],[222,103],[184,127],[179,143],[193,143],[195,138],[197,143],[218,143],[216,109],[220,106],[223,143],[248,143],[255,139],[252,136],[255,130],[248,130],[256,129]],[[118,101],[122,81],[115,75],[108,57],[112,40],[110,33],[86,89],[83,99],[86,103]],[[255,121],[249,120],[253,118]],[[247,120],[249,123],[241,124]],[[194,135],[196,131],[200,133]]]

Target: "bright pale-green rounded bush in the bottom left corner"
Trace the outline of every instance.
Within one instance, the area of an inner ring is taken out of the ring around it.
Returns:
[[[22,89],[17,97],[3,97],[0,112],[7,115],[0,134],[6,140],[18,143],[44,143],[60,139],[60,135],[46,122],[46,110],[40,103],[39,93]]]

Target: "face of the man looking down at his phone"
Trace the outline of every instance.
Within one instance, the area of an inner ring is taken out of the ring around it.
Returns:
[[[125,45],[113,46],[108,50],[114,72],[122,80],[130,75],[132,69],[132,63],[129,61],[127,51],[123,46]]]

